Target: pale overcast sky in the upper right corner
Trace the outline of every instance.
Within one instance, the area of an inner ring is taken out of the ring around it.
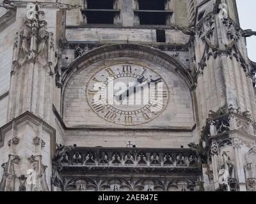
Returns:
[[[243,29],[256,31],[256,0],[236,0],[240,25]],[[247,38],[249,58],[256,62],[256,36]]]

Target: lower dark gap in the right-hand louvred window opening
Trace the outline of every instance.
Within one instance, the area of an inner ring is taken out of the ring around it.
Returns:
[[[141,25],[165,25],[166,14],[165,13],[140,13]]]

